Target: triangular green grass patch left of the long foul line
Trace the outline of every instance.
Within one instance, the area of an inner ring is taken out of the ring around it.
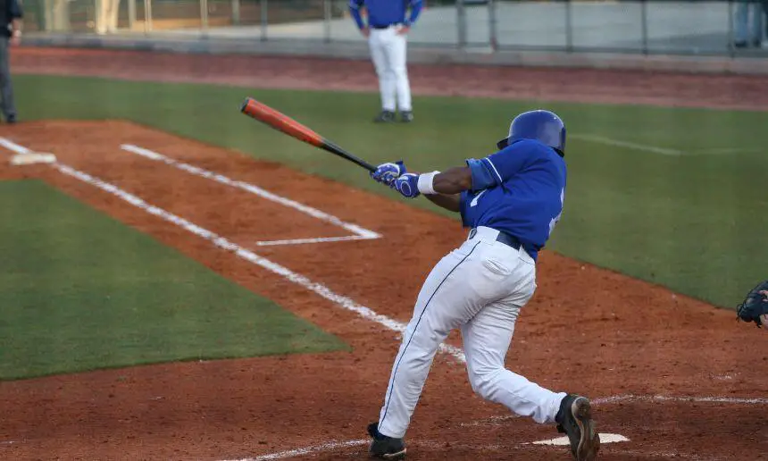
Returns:
[[[346,348],[37,180],[0,181],[0,255],[0,380]]]

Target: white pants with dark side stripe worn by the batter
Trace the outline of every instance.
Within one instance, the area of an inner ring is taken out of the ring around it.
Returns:
[[[389,377],[379,419],[382,434],[405,436],[438,346],[455,328],[462,331],[472,390],[537,423],[555,422],[566,394],[504,367],[517,315],[536,289],[536,264],[522,247],[497,242],[497,235],[477,228],[424,281]]]

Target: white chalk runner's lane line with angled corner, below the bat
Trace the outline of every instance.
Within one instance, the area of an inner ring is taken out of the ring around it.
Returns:
[[[285,240],[257,241],[256,242],[257,246],[264,247],[264,246],[274,246],[274,245],[303,245],[303,244],[309,244],[309,243],[327,243],[327,242],[341,242],[341,241],[349,241],[349,240],[381,239],[382,237],[381,234],[378,232],[371,231],[370,229],[365,229],[364,227],[358,226],[357,224],[353,224],[351,222],[342,221],[338,217],[332,214],[325,213],[321,210],[318,210],[317,208],[313,208],[312,206],[304,205],[302,203],[296,202],[296,200],[291,200],[290,198],[287,198],[287,197],[281,197],[277,194],[270,192],[269,190],[262,189],[258,186],[255,186],[254,184],[250,184],[242,180],[232,180],[231,178],[228,178],[223,174],[220,174],[217,172],[211,172],[190,163],[179,162],[178,160],[174,160],[169,156],[160,154],[159,152],[155,152],[154,150],[147,149],[146,147],[139,147],[133,144],[121,144],[120,148],[126,152],[140,155],[154,162],[165,163],[169,166],[172,166],[174,168],[181,170],[182,172],[188,172],[189,174],[194,174],[195,176],[205,178],[206,180],[215,180],[216,182],[219,182],[226,186],[230,186],[231,188],[245,190],[246,192],[254,194],[255,196],[265,198],[267,200],[270,200],[271,202],[274,202],[283,206],[288,206],[288,208],[292,208],[298,212],[307,214],[323,222],[329,222],[330,224],[338,226],[354,234],[354,235],[341,236],[341,237],[318,237],[313,239],[285,239]]]

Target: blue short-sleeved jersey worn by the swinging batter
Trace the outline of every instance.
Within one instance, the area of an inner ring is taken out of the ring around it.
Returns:
[[[461,194],[465,227],[513,235],[536,260],[563,212],[566,168],[555,149],[522,139],[480,160],[468,159],[472,190]]]

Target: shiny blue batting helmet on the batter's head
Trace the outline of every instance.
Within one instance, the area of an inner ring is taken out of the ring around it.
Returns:
[[[521,139],[535,139],[565,155],[565,123],[555,113],[537,110],[524,112],[509,125],[509,136],[497,143],[503,149]]]

